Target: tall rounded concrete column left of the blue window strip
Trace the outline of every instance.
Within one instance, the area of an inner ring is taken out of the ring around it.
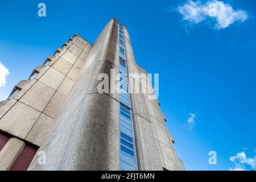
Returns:
[[[98,93],[100,73],[118,73],[117,27],[110,20],[86,58],[55,124],[39,151],[46,164],[33,159],[28,170],[118,170],[119,96]]]

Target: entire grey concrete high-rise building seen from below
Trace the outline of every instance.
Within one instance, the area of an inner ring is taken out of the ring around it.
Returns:
[[[16,84],[0,102],[0,170],[184,170],[156,98],[98,92],[113,70],[120,89],[143,89],[129,74],[147,72],[117,19],[94,44],[75,34]]]

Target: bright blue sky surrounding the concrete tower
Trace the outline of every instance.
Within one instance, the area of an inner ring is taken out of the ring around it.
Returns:
[[[46,17],[37,14],[39,2]],[[209,1],[1,1],[0,76],[3,67],[9,75],[0,100],[75,32],[93,43],[117,18],[129,28],[137,63],[159,73],[161,109],[185,167],[255,170],[256,2],[211,2],[225,5],[227,16],[205,13]]]

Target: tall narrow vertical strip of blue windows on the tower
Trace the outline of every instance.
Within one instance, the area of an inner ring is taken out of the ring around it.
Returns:
[[[138,160],[135,146],[135,135],[133,125],[133,111],[130,109],[130,94],[128,93],[127,64],[125,56],[125,43],[123,39],[123,27],[119,23],[119,72],[120,74],[120,170],[137,171]]]

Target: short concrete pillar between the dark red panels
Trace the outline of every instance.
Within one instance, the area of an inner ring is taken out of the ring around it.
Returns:
[[[0,151],[0,171],[9,171],[24,147],[22,140],[10,138]]]

